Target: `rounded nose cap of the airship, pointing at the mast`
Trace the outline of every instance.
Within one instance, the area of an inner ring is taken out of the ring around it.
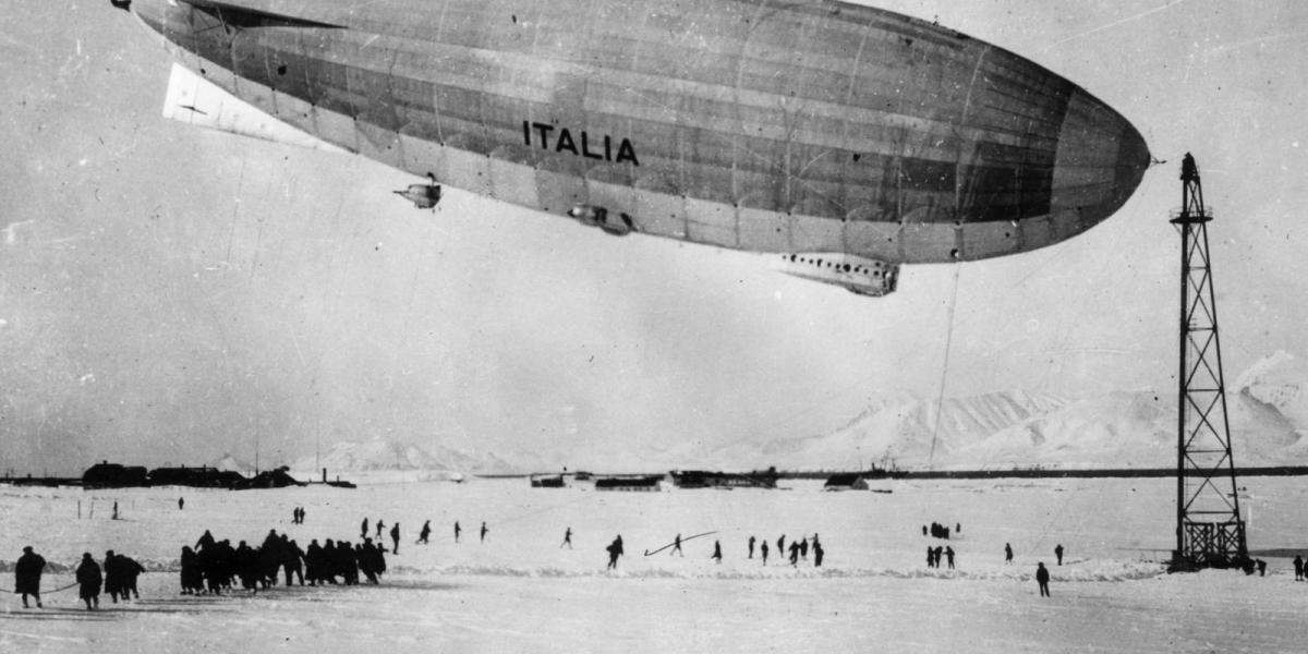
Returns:
[[[1135,127],[1075,89],[1058,135],[1050,188],[1054,221],[1071,220],[1071,230],[1080,232],[1112,216],[1135,192],[1148,165],[1148,145]]]

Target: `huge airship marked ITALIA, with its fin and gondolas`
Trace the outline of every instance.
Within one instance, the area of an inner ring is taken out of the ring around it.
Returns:
[[[865,296],[1080,234],[1151,160],[1057,73],[833,0],[111,1],[171,54],[169,118]]]

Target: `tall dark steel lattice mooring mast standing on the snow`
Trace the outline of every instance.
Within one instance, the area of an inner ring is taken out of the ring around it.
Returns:
[[[1222,347],[1213,297],[1199,169],[1181,162],[1181,366],[1176,451],[1176,551],[1172,570],[1243,566],[1249,561],[1231,456]],[[1230,485],[1227,484],[1230,481]]]

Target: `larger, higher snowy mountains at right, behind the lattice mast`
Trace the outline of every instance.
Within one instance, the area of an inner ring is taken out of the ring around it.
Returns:
[[[789,470],[850,470],[859,459],[901,468],[1171,467],[1176,400],[1176,390],[1076,400],[1003,391],[943,404],[895,398],[831,433],[742,441],[710,458]],[[1284,352],[1258,361],[1227,387],[1227,411],[1237,464],[1308,464],[1308,364]]]

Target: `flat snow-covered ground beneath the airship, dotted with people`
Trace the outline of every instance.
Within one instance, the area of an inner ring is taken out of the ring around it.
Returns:
[[[1300,479],[1243,480],[1253,549],[1303,542]],[[80,490],[0,487],[0,570],[25,544],[51,562],[50,591],[72,582],[81,552],[115,549],[152,572],[143,599],[78,608],[75,590],[22,610],[0,595],[0,651],[1303,651],[1308,583],[1286,559],[1266,578],[1167,576],[1175,488],[1167,480],[883,483],[893,493],[781,490],[606,493],[471,479],[280,490]],[[178,510],[177,498],[186,497]],[[120,518],[110,519],[118,502]],[[290,525],[305,506],[305,525]],[[78,518],[78,510],[81,517]],[[400,522],[381,587],[275,587],[256,596],[178,595],[178,555],[209,528],[259,542],[269,528],[302,545],[356,540],[360,522]],[[432,544],[413,544],[422,521]],[[453,525],[463,527],[455,544]],[[489,528],[484,543],[477,530]],[[948,542],[925,523],[961,523]],[[573,530],[574,549],[560,548]],[[685,556],[642,556],[678,532]],[[819,534],[798,568],[772,547]],[[606,572],[621,534],[627,556]],[[714,540],[723,561],[709,560]],[[1011,543],[1016,564],[1003,564]],[[1053,565],[1056,544],[1065,565]],[[929,570],[927,544],[951,545],[956,570]],[[1032,581],[1053,570],[1053,596]],[[12,577],[8,577],[12,578]],[[4,589],[12,589],[7,582]]]

